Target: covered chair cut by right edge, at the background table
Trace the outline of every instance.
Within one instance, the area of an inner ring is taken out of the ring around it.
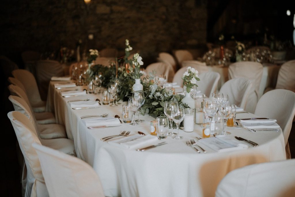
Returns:
[[[295,60],[287,61],[281,66],[276,89],[289,89],[295,92]]]

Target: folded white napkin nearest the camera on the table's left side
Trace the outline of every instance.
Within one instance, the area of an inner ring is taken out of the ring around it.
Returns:
[[[127,136],[121,139],[116,139],[113,141],[109,141],[110,144],[123,146],[128,149],[134,149],[134,148],[142,148],[145,145],[148,145],[154,141],[157,141],[157,136],[152,135],[145,135],[142,136],[140,134],[135,134],[132,136]]]

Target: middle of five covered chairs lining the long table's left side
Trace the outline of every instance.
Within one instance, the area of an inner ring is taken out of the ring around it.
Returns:
[[[22,90],[20,87],[18,87],[16,85],[12,85],[12,84],[10,84],[8,86],[8,89],[9,89],[11,95],[21,97],[23,100],[25,100],[27,102],[27,104],[30,106],[31,111],[33,112],[33,108],[31,106],[30,101],[27,97],[27,94],[24,92],[24,90]],[[39,113],[33,112],[33,113],[36,117],[37,123],[39,123],[39,124],[55,123],[55,116],[51,112],[39,112]]]

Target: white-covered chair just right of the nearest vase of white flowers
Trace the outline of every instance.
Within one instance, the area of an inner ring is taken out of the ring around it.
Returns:
[[[197,90],[207,97],[216,92],[220,74],[217,72],[209,71],[199,74],[200,81],[197,82]]]

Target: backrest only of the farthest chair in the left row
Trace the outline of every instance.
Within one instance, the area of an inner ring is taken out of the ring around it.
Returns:
[[[42,101],[36,79],[32,73],[24,69],[17,69],[12,71],[12,75],[23,84],[31,103]]]

